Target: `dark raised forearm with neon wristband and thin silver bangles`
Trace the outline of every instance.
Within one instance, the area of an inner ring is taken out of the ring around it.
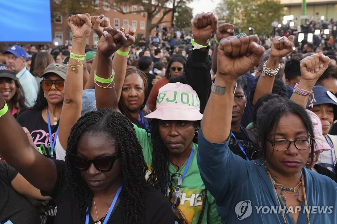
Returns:
[[[97,54],[95,59],[97,58],[97,69],[96,75],[100,78],[108,79],[112,74],[112,59],[111,57],[106,57],[103,55],[100,50],[97,50]],[[100,86],[108,86],[109,83],[100,83],[96,81]],[[95,93],[96,93],[96,107],[97,109],[101,108],[113,108],[114,110],[118,110],[118,99],[116,96],[115,87],[114,88],[102,88],[96,84]],[[114,83],[111,83],[113,86]]]

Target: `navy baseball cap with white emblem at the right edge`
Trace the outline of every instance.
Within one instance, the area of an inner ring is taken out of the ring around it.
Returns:
[[[334,108],[334,120],[337,120],[337,98],[336,96],[324,88],[323,86],[316,85],[312,88],[312,92],[314,94],[316,102],[312,102],[313,106],[317,106],[320,104],[331,104]],[[310,100],[307,103],[307,109],[310,106]]]

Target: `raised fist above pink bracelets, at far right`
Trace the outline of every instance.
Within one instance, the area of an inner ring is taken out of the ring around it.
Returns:
[[[328,68],[329,57],[323,53],[316,53],[311,56],[302,59],[301,66],[301,78],[312,85],[316,83],[318,78]]]

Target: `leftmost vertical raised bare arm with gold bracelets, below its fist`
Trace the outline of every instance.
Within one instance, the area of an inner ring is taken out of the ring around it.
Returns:
[[[72,52],[74,54],[85,54],[86,42],[73,40]],[[69,65],[82,65],[84,61],[77,62],[75,59],[69,59]],[[72,70],[68,66],[67,77],[64,83],[64,101],[60,117],[59,140],[63,149],[67,148],[67,141],[72,126],[81,117],[82,111],[82,93],[83,93],[83,76],[84,67],[78,70]]]

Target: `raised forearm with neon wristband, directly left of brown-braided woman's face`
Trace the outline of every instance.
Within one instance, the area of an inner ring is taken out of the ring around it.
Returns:
[[[130,49],[129,47],[121,47],[119,50],[122,52],[128,52]],[[122,94],[122,87],[124,84],[126,67],[127,67],[127,56],[121,56],[115,53],[115,57],[112,63],[112,68],[115,71],[114,82],[115,82],[115,90],[116,90],[116,96],[117,96],[118,101]]]

